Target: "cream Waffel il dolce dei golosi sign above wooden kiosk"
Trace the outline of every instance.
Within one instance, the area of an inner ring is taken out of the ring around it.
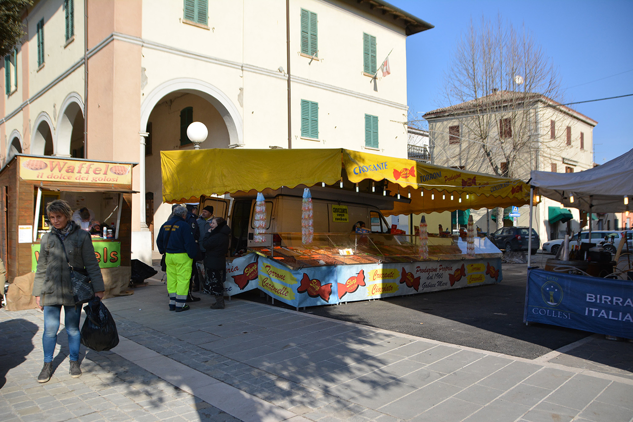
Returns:
[[[132,164],[20,157],[23,180],[132,184]]]

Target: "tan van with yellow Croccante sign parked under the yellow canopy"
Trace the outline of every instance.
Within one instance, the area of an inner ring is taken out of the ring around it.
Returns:
[[[364,222],[373,233],[389,233],[389,225],[380,209],[392,209],[390,196],[356,193],[341,189],[310,188],[312,195],[314,233],[346,233],[353,231],[356,222]],[[278,233],[301,233],[302,188],[265,189],[266,241],[280,241]],[[227,220],[231,229],[230,253],[244,250],[254,243],[254,208],[256,193],[239,193],[232,198],[203,196],[199,210],[211,205],[216,217]],[[396,199],[397,201],[397,199]],[[401,201],[408,201],[403,198]],[[272,237],[271,237],[272,236]]]

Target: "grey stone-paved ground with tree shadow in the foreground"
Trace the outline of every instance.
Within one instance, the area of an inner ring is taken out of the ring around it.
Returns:
[[[121,343],[82,347],[80,378],[61,331],[37,383],[42,313],[0,310],[0,420],[633,420],[633,373],[609,366],[633,343],[592,336],[529,360],[242,300],[176,314],[159,279],[105,300]]]

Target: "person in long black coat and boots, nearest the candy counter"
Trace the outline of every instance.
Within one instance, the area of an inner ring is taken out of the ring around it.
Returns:
[[[211,221],[209,231],[204,234],[204,293],[215,295],[211,309],[224,309],[224,281],[227,278],[227,252],[231,229],[222,217]]]

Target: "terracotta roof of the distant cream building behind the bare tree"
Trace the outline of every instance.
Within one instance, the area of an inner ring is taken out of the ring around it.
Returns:
[[[518,94],[518,95],[517,95]],[[523,98],[521,97],[523,96]],[[587,117],[586,115],[573,110],[573,108],[569,108],[568,106],[561,105],[560,103],[554,101],[551,98],[548,98],[542,94],[538,93],[515,93],[513,91],[498,91],[495,94],[489,94],[485,97],[478,99],[471,99],[470,101],[466,101],[464,103],[437,108],[436,110],[431,110],[423,115],[423,117],[427,120],[432,118],[440,118],[440,117],[449,117],[449,116],[457,116],[465,113],[472,112],[475,110],[475,105],[480,103],[482,106],[486,106],[487,108],[498,105],[508,106],[517,103],[531,103],[532,101],[541,101],[542,103],[546,103],[546,105],[553,106],[555,108],[559,108],[563,112],[571,114],[580,120],[585,120],[588,124],[593,126],[597,125],[598,122],[593,120],[591,117]]]

